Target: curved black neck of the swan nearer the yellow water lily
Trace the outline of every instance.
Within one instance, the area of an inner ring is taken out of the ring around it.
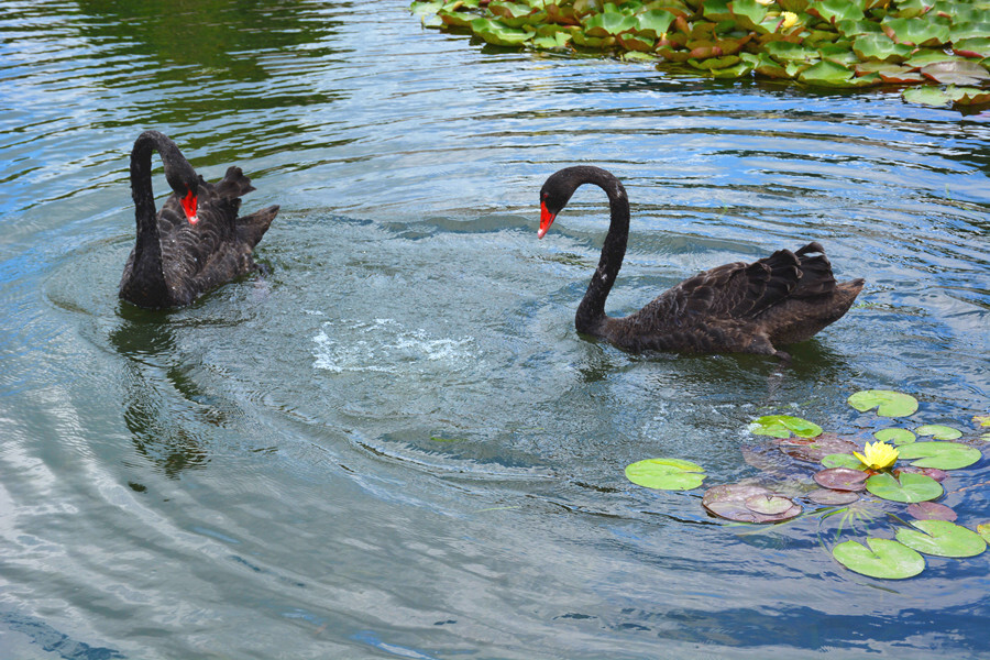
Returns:
[[[604,169],[597,167],[574,169],[580,170],[581,177],[575,188],[581,184],[594,184],[608,196],[612,219],[608,233],[605,235],[605,244],[602,246],[602,257],[574,316],[574,326],[579,332],[601,334],[601,327],[606,318],[605,299],[608,298],[612,285],[615,284],[619,268],[623,267],[623,258],[626,256],[626,242],[629,239],[629,198],[626,197],[623,184]]]

